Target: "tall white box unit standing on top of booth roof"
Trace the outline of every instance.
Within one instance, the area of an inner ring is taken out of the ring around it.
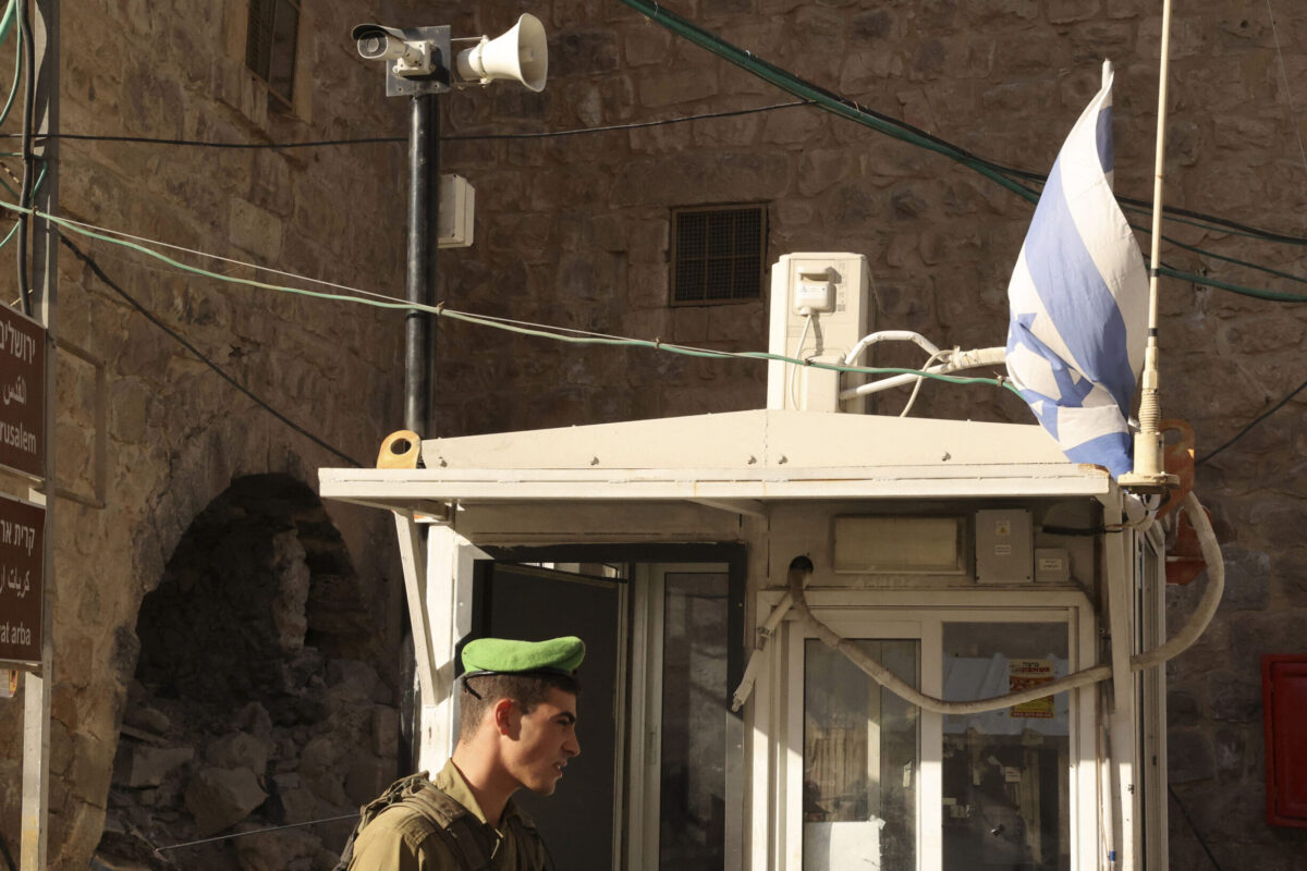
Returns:
[[[782,255],[771,266],[769,351],[842,364],[857,341],[870,332],[873,311],[870,270],[864,255]],[[767,364],[767,407],[861,413],[865,398],[840,402],[839,390],[864,380],[860,375],[840,376],[834,370],[771,360]]]

